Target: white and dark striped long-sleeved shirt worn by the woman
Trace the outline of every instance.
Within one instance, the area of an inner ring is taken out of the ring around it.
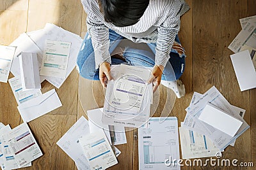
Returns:
[[[87,13],[87,30],[92,38],[95,67],[109,62],[109,29],[134,43],[156,43],[155,63],[166,66],[170,59],[175,36],[180,29],[180,16],[189,10],[184,0],[150,0],[139,22],[127,27],[116,27],[104,20],[98,0],[81,0]]]

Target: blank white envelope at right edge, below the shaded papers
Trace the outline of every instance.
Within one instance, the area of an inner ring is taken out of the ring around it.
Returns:
[[[243,52],[234,53],[230,55],[230,58],[241,91],[255,88],[256,71],[250,57],[250,52],[245,50]]]

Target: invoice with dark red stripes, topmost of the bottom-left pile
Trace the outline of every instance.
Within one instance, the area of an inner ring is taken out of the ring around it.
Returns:
[[[6,139],[19,167],[43,155],[26,123],[12,129],[12,131],[7,134]]]

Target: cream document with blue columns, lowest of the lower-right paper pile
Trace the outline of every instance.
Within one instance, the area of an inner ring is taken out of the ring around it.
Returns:
[[[220,150],[205,135],[179,127],[182,159],[215,157]]]

